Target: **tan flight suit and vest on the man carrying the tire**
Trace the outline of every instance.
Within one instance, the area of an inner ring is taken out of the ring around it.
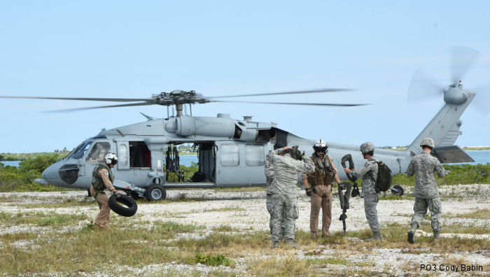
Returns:
[[[93,180],[92,185],[90,186],[90,194],[97,200],[97,204],[99,204],[100,210],[99,215],[97,215],[97,220],[95,220],[95,225],[102,228],[107,228],[109,227],[111,208],[109,207],[109,198],[107,197],[106,192],[104,190],[100,190],[102,188],[100,182],[102,182],[104,188],[106,188],[107,190],[116,190],[116,188],[112,185],[114,176],[108,166],[106,166],[105,164],[99,164],[99,166],[94,169],[92,179]],[[97,190],[94,188],[94,185],[95,187],[98,187]]]

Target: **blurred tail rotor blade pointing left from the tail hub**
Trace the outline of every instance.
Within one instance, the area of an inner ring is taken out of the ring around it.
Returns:
[[[428,78],[421,69],[417,69],[408,86],[407,101],[413,104],[431,97],[439,97],[442,94],[444,94],[444,87]]]

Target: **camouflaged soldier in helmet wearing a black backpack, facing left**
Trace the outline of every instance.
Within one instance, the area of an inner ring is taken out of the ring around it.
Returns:
[[[379,221],[376,206],[379,201],[379,192],[376,192],[374,185],[378,176],[378,164],[374,155],[374,145],[370,142],[365,142],[360,145],[360,152],[363,154],[364,159],[367,162],[361,169],[344,169],[346,173],[350,173],[352,176],[362,178],[362,188],[364,193],[364,212],[366,215],[367,223],[372,231],[372,238],[367,239],[383,239],[381,232],[379,232]]]

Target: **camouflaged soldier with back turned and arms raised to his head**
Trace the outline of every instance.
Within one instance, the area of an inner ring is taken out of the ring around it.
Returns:
[[[286,146],[267,154],[267,160],[274,164],[274,180],[270,187],[272,192],[272,241],[273,248],[279,247],[281,241],[281,221],[283,212],[284,225],[286,227],[284,236],[290,246],[296,247],[294,243],[295,220],[299,215],[297,208],[297,174],[300,172],[311,174],[315,166],[311,159],[302,157],[302,160],[294,159],[290,151],[292,148]],[[281,156],[280,154],[284,154]]]

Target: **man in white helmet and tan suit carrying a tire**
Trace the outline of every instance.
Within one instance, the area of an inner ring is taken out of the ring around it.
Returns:
[[[116,188],[113,186],[114,175],[111,171],[117,163],[118,156],[109,152],[106,157],[104,157],[104,162],[97,164],[97,167],[92,171],[90,194],[97,200],[100,210],[94,224],[94,227],[97,229],[109,228],[111,208],[109,207],[109,198],[107,197],[105,190],[109,190],[113,193],[117,192]]]

